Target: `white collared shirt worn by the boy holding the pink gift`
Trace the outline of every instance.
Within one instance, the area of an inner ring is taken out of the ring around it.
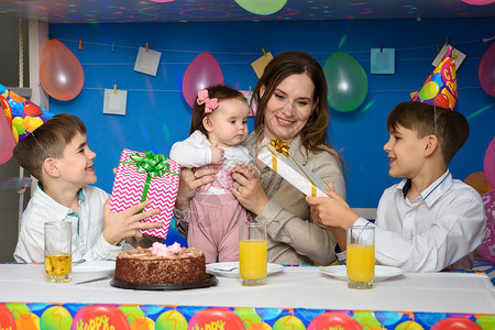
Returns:
[[[56,202],[36,186],[33,198],[22,213],[14,258],[16,262],[44,262],[44,223],[73,223],[73,261],[114,260],[122,250],[111,245],[103,235],[103,204],[109,195],[100,188],[87,186],[79,190],[79,213]],[[119,244],[120,245],[120,244]]]

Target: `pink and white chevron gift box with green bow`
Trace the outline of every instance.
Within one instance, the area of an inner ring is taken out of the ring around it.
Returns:
[[[142,233],[166,239],[179,183],[180,165],[165,155],[152,152],[122,151],[113,182],[110,209],[121,212],[142,200],[151,200],[144,211],[161,209],[145,222],[163,222],[162,228],[141,230]]]

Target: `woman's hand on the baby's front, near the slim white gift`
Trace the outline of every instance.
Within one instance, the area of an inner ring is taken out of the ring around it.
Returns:
[[[239,202],[256,216],[260,215],[268,204],[268,197],[260,182],[257,170],[251,165],[239,163],[233,169],[232,178],[234,179],[232,194]]]

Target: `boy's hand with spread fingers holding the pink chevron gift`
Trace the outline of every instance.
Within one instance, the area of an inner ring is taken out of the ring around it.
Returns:
[[[110,198],[103,206],[105,229],[103,238],[112,245],[117,245],[125,238],[136,237],[141,238],[142,233],[140,229],[161,228],[163,224],[160,222],[140,222],[143,219],[160,213],[160,209],[148,210],[142,213],[138,213],[151,204],[150,200],[136,204],[129,209],[113,213],[110,210]]]

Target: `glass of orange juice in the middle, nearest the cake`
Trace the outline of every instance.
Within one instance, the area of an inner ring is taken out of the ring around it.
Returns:
[[[266,284],[266,226],[257,222],[242,223],[239,241],[239,273],[242,285]]]

